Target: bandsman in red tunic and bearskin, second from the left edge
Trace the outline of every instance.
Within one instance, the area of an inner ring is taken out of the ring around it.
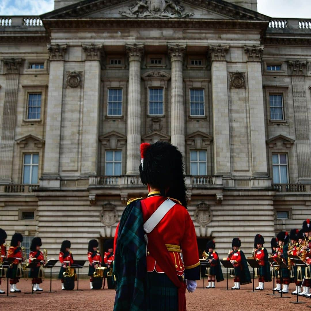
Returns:
[[[8,278],[10,279],[10,292],[20,293],[21,291],[16,288],[16,284],[19,282],[19,278],[22,276],[21,262],[25,261],[25,254],[21,250],[21,242],[23,242],[23,236],[20,233],[14,233],[11,240],[11,246],[9,248],[7,257],[15,258],[12,268],[7,269]]]

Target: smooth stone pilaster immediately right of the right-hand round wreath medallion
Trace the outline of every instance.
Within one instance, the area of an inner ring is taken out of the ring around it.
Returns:
[[[251,134],[252,175],[267,177],[266,135],[264,122],[261,60],[262,46],[244,46],[248,57],[248,100]]]

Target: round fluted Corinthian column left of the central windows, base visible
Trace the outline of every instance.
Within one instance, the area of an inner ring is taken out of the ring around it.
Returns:
[[[144,46],[136,43],[127,44],[125,49],[129,61],[126,174],[137,175],[140,163],[139,146],[141,143],[140,66]]]

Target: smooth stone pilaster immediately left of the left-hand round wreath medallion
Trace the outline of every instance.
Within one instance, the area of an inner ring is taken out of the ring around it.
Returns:
[[[49,92],[46,118],[44,168],[40,186],[59,188],[59,158],[62,122],[64,57],[67,45],[48,45]]]

